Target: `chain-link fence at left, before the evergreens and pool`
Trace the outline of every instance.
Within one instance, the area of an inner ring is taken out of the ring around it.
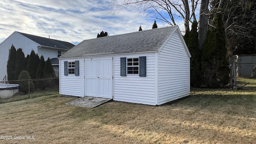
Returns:
[[[0,99],[8,99],[16,96],[26,95],[28,98],[33,93],[45,91],[58,91],[59,78],[0,81]]]

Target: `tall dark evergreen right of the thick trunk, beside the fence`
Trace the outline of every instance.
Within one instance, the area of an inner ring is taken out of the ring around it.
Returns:
[[[220,12],[214,20],[214,28],[208,30],[202,52],[204,84],[211,88],[224,87],[229,81],[225,30]]]

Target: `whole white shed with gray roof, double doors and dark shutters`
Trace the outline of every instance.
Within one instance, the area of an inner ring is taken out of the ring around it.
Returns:
[[[59,57],[60,94],[160,105],[190,94],[178,26],[84,40]]]

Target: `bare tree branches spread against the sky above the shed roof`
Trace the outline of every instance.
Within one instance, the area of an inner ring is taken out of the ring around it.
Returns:
[[[185,30],[189,30],[191,19],[196,20],[195,12],[200,0],[124,0],[122,3],[118,3],[120,1],[117,0],[111,1],[112,4],[108,6],[114,13],[124,8],[134,8],[138,10],[139,15],[154,17],[170,25],[176,25],[179,18],[182,18]]]

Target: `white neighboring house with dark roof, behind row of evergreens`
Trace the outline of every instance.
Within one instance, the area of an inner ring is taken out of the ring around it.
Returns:
[[[58,58],[58,56],[61,56],[75,46],[69,42],[24,34],[22,32],[13,32],[0,44],[0,80],[3,80],[7,75],[7,61],[12,44],[16,50],[22,48],[25,57],[31,53],[31,50],[34,50],[39,57],[43,55],[44,60],[47,60],[48,57],[51,59]],[[55,63],[53,66],[54,70],[58,70],[58,63]]]

